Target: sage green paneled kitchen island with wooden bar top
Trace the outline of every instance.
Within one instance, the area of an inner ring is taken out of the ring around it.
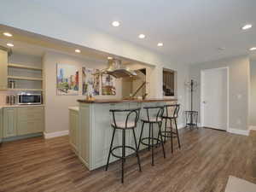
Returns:
[[[111,127],[112,115],[110,109],[142,108],[141,117],[145,115],[144,106],[162,106],[165,104],[176,103],[176,99],[147,99],[147,100],[78,100],[79,112],[77,125],[77,149],[79,159],[89,170],[105,166],[108,157],[108,150],[113,133]],[[70,108],[71,110],[71,108]],[[119,118],[125,118],[125,115],[119,115]],[[145,127],[146,128],[146,127]],[[158,129],[154,129],[157,134]],[[139,120],[136,128],[137,142],[141,131],[141,122]],[[148,136],[148,129],[144,129],[143,135]],[[126,145],[134,146],[132,131],[127,131]],[[118,131],[114,139],[113,146],[121,144],[121,131]],[[143,149],[145,147],[142,146]],[[121,151],[119,151],[121,152]],[[119,153],[117,151],[117,153]],[[129,155],[133,151],[127,149]],[[112,157],[110,162],[117,160]]]

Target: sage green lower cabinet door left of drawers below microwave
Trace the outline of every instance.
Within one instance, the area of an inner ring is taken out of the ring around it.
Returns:
[[[15,137],[17,135],[16,109],[3,109],[3,137]]]

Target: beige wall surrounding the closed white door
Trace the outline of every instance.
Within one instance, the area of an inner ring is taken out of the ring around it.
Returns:
[[[249,58],[238,56],[218,61],[209,61],[190,67],[190,77],[201,84],[201,70],[218,67],[230,68],[230,128],[248,129],[249,117]],[[195,91],[194,106],[200,112],[201,89]]]

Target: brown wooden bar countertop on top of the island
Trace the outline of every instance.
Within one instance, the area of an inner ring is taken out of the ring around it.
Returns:
[[[122,103],[122,102],[176,102],[177,99],[95,99],[95,100],[78,100],[82,103]]]

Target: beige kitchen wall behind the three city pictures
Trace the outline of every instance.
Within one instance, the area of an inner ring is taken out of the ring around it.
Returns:
[[[82,96],[81,74],[82,67],[104,68],[106,63],[90,61],[70,55],[55,52],[47,52],[44,55],[44,79],[45,79],[45,132],[68,130],[68,107],[78,106],[78,99]],[[56,95],[56,63],[70,64],[79,67],[79,96]],[[121,98],[121,84],[117,79],[116,96],[96,96],[96,98]]]

